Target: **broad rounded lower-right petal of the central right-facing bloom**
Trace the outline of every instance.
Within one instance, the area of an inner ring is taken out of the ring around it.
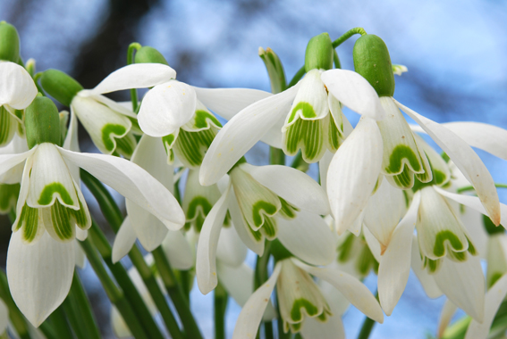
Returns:
[[[327,265],[334,260],[334,233],[319,215],[301,211],[295,219],[277,221],[278,240],[292,254],[313,265]]]

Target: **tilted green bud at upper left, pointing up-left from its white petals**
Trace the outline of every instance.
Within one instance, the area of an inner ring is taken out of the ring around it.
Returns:
[[[65,106],[70,106],[74,96],[83,89],[79,82],[61,70],[44,71],[40,77],[40,85],[48,95]]]

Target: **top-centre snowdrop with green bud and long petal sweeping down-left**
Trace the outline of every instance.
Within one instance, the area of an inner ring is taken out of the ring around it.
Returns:
[[[261,139],[289,155],[301,150],[308,162],[320,160],[326,150],[334,153],[352,128],[321,79],[332,67],[331,39],[327,33],[313,37],[307,46],[305,78],[282,93],[252,103],[224,126],[203,161],[201,184],[217,182]]]

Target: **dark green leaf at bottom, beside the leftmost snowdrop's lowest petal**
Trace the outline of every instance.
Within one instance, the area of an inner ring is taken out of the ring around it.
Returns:
[[[89,305],[89,299],[80,282],[78,272],[74,270],[71,291],[63,302],[65,313],[69,317],[72,329],[78,338],[99,339],[97,320]]]

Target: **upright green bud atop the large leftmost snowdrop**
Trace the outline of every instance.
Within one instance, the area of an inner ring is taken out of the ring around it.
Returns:
[[[27,107],[25,129],[30,149],[43,143],[62,145],[58,109],[46,96],[37,96]]]

